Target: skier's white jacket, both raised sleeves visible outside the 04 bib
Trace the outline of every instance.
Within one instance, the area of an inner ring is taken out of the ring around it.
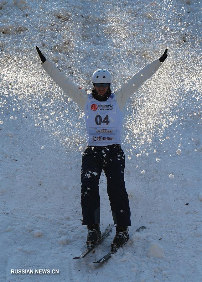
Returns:
[[[62,88],[62,90],[77,103],[82,110],[85,108],[85,103],[89,94],[84,89],[81,89],[79,85],[68,78],[62,73],[56,65],[49,60],[45,60],[42,64],[44,70],[50,77]],[[125,81],[119,88],[114,90],[117,104],[120,110],[123,110],[127,100],[133,95],[138,87],[146,81],[155,71],[161,66],[159,59],[146,65],[142,70],[138,71],[134,76]]]

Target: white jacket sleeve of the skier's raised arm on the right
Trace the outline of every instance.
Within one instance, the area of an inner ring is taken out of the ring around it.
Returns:
[[[146,81],[155,71],[161,66],[159,59],[146,65],[142,70],[138,71],[134,76],[126,80],[115,92],[117,103],[122,110],[127,100],[139,88],[139,86]]]

